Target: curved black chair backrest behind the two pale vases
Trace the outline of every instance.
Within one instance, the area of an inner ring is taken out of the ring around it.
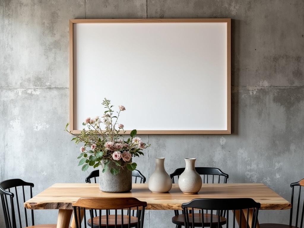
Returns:
[[[179,176],[184,172],[185,168],[178,168],[176,169],[173,173],[170,174],[170,178],[172,180],[172,183],[174,184],[174,177]],[[212,167],[195,167],[196,172],[198,174],[202,175],[202,182],[203,184],[208,184],[208,183],[214,183],[214,177],[216,177],[216,182],[217,183],[227,183],[227,179],[229,177],[228,174],[223,173],[220,169],[218,168],[212,168]],[[217,177],[218,176],[218,177]],[[222,181],[221,181],[222,179]]]

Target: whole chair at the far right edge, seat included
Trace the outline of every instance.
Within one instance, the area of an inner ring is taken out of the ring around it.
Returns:
[[[292,208],[290,209],[289,225],[277,224],[277,223],[262,223],[262,224],[260,224],[260,228],[296,228],[296,227],[302,228],[303,227],[303,217],[304,217],[304,199],[301,200],[301,187],[302,186],[304,186],[304,179],[290,184],[290,187],[292,188],[292,193],[291,193]],[[299,193],[298,193],[298,197],[297,197],[298,200],[296,202],[296,205],[294,205],[294,198],[296,198],[294,195],[295,188],[299,188]],[[301,204],[301,202],[302,202],[302,204]],[[303,205],[301,213],[300,213],[300,205]],[[295,208],[296,208],[295,223],[292,224],[292,218],[294,215],[293,212],[294,212]],[[300,219],[299,219],[299,214],[301,214]],[[300,226],[298,226],[298,224]]]

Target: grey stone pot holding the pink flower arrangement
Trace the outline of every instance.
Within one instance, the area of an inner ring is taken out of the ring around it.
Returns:
[[[117,175],[111,174],[111,168],[118,168],[113,162],[108,165],[107,171],[102,173],[102,166],[99,169],[99,189],[102,192],[121,193],[129,192],[132,189],[132,171],[120,168]]]

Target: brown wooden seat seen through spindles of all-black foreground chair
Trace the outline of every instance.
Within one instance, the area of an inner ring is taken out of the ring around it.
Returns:
[[[211,214],[204,214],[204,226],[210,227]],[[192,224],[192,214],[189,214],[189,222]],[[184,215],[177,215],[172,217],[172,223],[184,226]],[[226,224],[226,219],[222,216],[219,217],[219,224]],[[218,225],[218,216],[212,215],[212,225]],[[202,214],[194,213],[194,226],[202,226]],[[261,227],[260,227],[261,228]]]

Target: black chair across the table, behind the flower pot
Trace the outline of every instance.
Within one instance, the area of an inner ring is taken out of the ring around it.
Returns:
[[[86,183],[91,183],[91,179],[94,178],[94,182],[95,184],[97,183],[96,178],[99,177],[99,170],[93,170],[88,176],[87,178],[85,178],[85,182]],[[132,177],[134,178],[134,183],[137,183],[137,181],[141,184],[141,183],[145,183],[146,182],[146,177],[139,171],[139,170],[133,170],[132,171]],[[98,227],[98,219],[99,217],[97,216],[97,210],[93,210],[93,212],[95,212],[95,216],[93,214],[93,216],[95,217],[93,220],[93,227]],[[91,213],[91,211],[90,211]],[[131,218],[134,220],[139,216],[139,211],[138,210],[131,210]],[[108,214],[110,214],[110,211],[108,211]],[[128,214],[129,215],[129,211]],[[91,220],[88,221],[88,226],[91,226]]]

